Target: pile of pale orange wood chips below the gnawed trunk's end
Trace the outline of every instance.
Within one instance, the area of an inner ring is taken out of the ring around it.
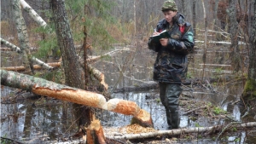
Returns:
[[[140,134],[140,133],[153,132],[157,130],[154,130],[154,128],[145,128],[139,124],[130,124],[125,126],[125,131],[128,134]]]

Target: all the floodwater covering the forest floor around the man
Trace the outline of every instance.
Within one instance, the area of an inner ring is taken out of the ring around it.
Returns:
[[[123,49],[117,47],[116,49]],[[207,65],[205,67],[205,77],[218,77],[230,75],[231,67],[225,64],[226,56],[224,53],[227,49],[213,49],[207,52]],[[9,54],[13,55],[13,54]],[[201,50],[196,49],[195,54],[189,55],[189,77],[201,78],[202,62]],[[155,54],[148,49],[129,48],[120,50],[112,55],[112,59],[105,59],[94,62],[92,65],[100,71],[104,72],[106,83],[110,86],[109,92],[113,89],[119,89],[126,86],[139,86],[152,81],[152,66]],[[3,53],[2,57],[3,58]],[[10,66],[9,59],[4,59],[8,64],[2,66]],[[1,61],[3,64],[3,60]],[[12,65],[13,66],[13,65]],[[19,66],[19,65],[18,65]],[[181,124],[182,128],[191,127],[207,127],[214,124],[223,124],[225,118],[202,117],[200,114],[196,116],[184,115],[189,107],[188,100],[197,102],[205,102],[202,104],[212,103],[214,106],[222,107],[224,111],[229,112],[236,121],[247,122],[255,121],[253,117],[241,118],[244,114],[241,108],[236,105],[236,101],[240,99],[243,81],[237,83],[220,83],[214,82],[211,85],[203,85],[198,87],[183,86],[183,95],[181,96]],[[45,143],[46,141],[63,141],[73,135],[76,129],[75,119],[72,114],[72,105],[67,102],[41,97],[31,99],[28,93],[18,93],[17,89],[9,87],[1,88],[2,104],[1,104],[1,136],[8,137],[17,141],[25,141],[24,143]],[[9,97],[16,97],[15,101],[7,100]],[[147,112],[150,112],[154,122],[155,130],[166,130],[166,114],[159,98],[158,89],[125,91],[112,93],[112,98],[136,101],[137,105]],[[252,113],[251,113],[252,114]],[[97,118],[102,122],[102,126],[106,129],[117,128],[117,130],[125,125],[130,124],[131,116],[125,116],[119,113],[107,112],[103,110],[96,111]],[[254,112],[253,116],[256,115]],[[196,119],[195,119],[196,117]],[[209,119],[212,118],[212,119]],[[117,131],[118,132],[118,131]],[[230,135],[225,134],[219,139],[224,143],[253,143],[255,141],[255,130],[243,130],[233,132]],[[216,143],[213,137],[201,138],[195,135],[183,135],[177,142],[181,143]]]

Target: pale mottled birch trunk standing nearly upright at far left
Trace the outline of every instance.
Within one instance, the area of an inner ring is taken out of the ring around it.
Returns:
[[[22,17],[22,11],[19,0],[13,0],[13,10],[15,15],[16,29],[18,32],[18,39],[20,49],[23,54],[22,63],[26,67],[26,73],[32,74],[32,55],[28,46],[28,35],[26,32],[25,20]]]

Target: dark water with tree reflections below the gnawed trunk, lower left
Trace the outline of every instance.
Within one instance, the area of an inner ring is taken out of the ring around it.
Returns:
[[[1,96],[9,96],[14,89],[3,87]],[[71,135],[73,124],[71,105],[60,101],[26,100],[1,106],[1,136],[29,143]],[[65,110],[66,109],[66,110]],[[67,111],[67,112],[65,112]]]

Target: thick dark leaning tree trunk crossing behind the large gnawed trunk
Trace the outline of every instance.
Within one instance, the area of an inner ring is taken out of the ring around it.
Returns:
[[[84,83],[79,69],[79,60],[76,55],[72,33],[67,19],[64,1],[51,0],[52,11],[55,21],[55,32],[58,38],[58,45],[61,49],[63,61],[65,82],[67,85],[84,89]],[[73,104],[75,116],[78,119],[77,124],[88,126],[93,113],[89,107],[83,107],[79,104]]]

